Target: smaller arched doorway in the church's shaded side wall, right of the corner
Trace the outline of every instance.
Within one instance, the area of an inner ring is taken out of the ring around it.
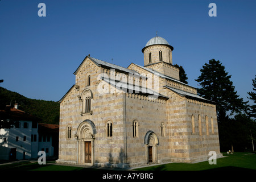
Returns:
[[[156,163],[158,161],[159,140],[153,131],[147,131],[144,137],[144,144],[146,145],[147,163]]]

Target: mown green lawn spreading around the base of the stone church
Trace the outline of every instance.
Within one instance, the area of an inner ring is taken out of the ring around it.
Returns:
[[[208,161],[187,164],[187,163],[169,163],[159,166],[149,166],[137,168],[137,171],[204,171],[204,170],[256,170],[256,154],[235,152],[233,155],[227,155],[225,158],[217,159],[217,164],[210,165]],[[54,162],[47,162],[46,165],[39,165],[37,162],[20,162],[15,164],[1,165],[0,170],[7,171],[97,171],[100,169],[76,167],[76,166],[61,166]]]

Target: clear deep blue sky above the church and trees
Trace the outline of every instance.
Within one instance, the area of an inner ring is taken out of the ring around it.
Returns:
[[[39,17],[39,3],[46,17]],[[210,17],[209,3],[217,16]],[[28,98],[59,101],[75,84],[88,54],[128,67],[143,65],[142,48],[163,37],[174,47],[188,84],[210,59],[220,60],[247,101],[256,75],[256,1],[2,0],[0,84]],[[113,59],[113,60],[112,60]]]

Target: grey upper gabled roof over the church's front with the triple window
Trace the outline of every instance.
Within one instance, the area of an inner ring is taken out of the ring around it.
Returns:
[[[89,58],[91,61],[93,61],[94,64],[96,64],[98,67],[105,67],[105,68],[110,68],[110,69],[117,69],[118,71],[121,71],[121,72],[125,72],[125,73],[132,73],[134,75],[138,75],[138,76],[141,76],[141,77],[144,77],[143,75],[139,74],[138,72],[134,71],[134,70],[131,70],[131,69],[128,69],[128,68],[124,68],[124,67],[121,67],[119,65],[115,65],[115,64],[112,64],[112,63],[108,63],[106,61],[102,61],[102,60],[99,60],[99,59],[96,59],[94,57],[90,57],[90,56],[86,56],[86,58]],[[79,65],[79,67],[76,69],[76,71],[73,73],[74,75],[76,75],[76,73],[78,72],[79,68],[81,67],[81,65],[84,63],[85,59],[82,61],[82,63]]]

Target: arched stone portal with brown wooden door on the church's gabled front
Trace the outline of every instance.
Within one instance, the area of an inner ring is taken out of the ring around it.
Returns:
[[[77,128],[77,164],[94,165],[94,139],[96,127],[86,119]]]

